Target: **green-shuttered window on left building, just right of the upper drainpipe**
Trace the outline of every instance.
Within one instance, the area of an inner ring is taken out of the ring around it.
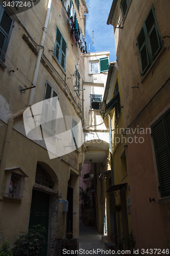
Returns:
[[[64,40],[60,30],[56,29],[56,41],[55,41],[55,48],[54,48],[54,56],[60,63],[61,67],[65,71],[65,63],[66,63],[66,41]]]

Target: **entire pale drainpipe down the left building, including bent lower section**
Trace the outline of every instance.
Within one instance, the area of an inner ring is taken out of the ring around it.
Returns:
[[[52,0],[49,0],[48,1],[47,12],[46,12],[45,24],[44,24],[44,28],[43,28],[43,34],[42,34],[42,37],[41,37],[41,46],[42,47],[40,47],[39,52],[38,52],[36,67],[35,67],[34,76],[33,76],[33,84],[34,85],[35,85],[36,80],[37,80],[39,64],[40,64],[40,60],[41,60],[41,54],[42,54],[42,49],[43,49],[44,39],[45,39],[45,34],[46,34],[46,27],[47,27],[48,19],[49,19],[49,16],[50,16],[51,3],[52,3]],[[31,89],[30,98],[29,98],[29,105],[32,105],[32,103],[33,103],[34,91],[35,91],[35,88]],[[3,198],[2,186],[3,186],[4,172],[5,172],[5,166],[6,166],[6,161],[7,161],[8,148],[9,148],[9,143],[10,143],[10,138],[11,138],[11,133],[12,133],[13,122],[14,122],[14,119],[16,119],[17,117],[22,116],[23,112],[28,108],[29,108],[29,106],[25,109],[22,109],[22,110],[18,111],[17,113],[10,116],[10,118],[8,120],[7,131],[6,131],[6,136],[5,136],[4,146],[3,146],[3,152],[2,152],[2,157],[1,157],[1,164],[0,164],[0,193],[1,193],[0,194],[0,199]]]

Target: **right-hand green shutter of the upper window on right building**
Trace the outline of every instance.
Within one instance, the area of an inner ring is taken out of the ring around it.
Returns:
[[[152,59],[154,60],[159,50],[161,49],[161,44],[156,26],[156,20],[152,9],[149,12],[148,17],[145,19],[145,26],[147,28],[147,33],[149,37]]]

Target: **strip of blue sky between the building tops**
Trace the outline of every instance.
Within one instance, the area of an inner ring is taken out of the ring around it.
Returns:
[[[90,52],[110,51],[110,62],[116,61],[113,26],[107,25],[112,2],[113,0],[86,0],[88,8],[85,36],[87,51],[89,51],[92,31],[94,31],[94,44],[90,45]]]

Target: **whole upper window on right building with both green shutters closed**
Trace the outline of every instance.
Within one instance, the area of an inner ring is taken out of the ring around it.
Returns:
[[[137,37],[141,75],[144,75],[160,52],[162,45],[157,19],[152,6]]]

